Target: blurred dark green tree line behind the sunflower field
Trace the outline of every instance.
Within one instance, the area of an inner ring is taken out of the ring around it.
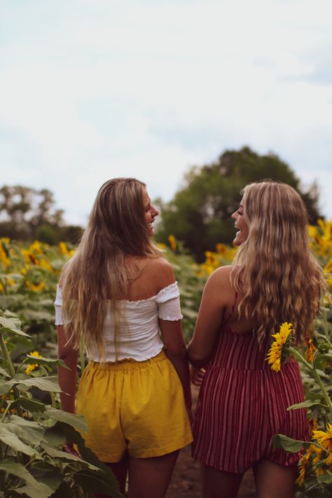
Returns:
[[[194,166],[184,176],[184,185],[170,202],[160,205],[160,222],[155,238],[167,243],[174,235],[184,247],[202,261],[205,251],[214,250],[218,242],[230,244],[235,236],[230,215],[237,209],[241,191],[251,181],[275,179],[298,191],[307,207],[310,223],[319,212],[319,191],[314,183],[307,191],[286,162],[276,154],[259,155],[248,146],[239,151],[225,151],[211,164]],[[76,244],[80,226],[67,225],[64,213],[55,208],[53,193],[25,186],[0,189],[0,235],[13,240],[38,239],[49,244],[66,240]]]

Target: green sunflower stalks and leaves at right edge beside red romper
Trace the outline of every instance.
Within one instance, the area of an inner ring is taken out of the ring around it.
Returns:
[[[299,410],[307,408],[307,416],[311,423],[310,441],[297,441],[282,434],[273,438],[275,448],[284,448],[289,452],[304,450],[300,459],[298,477],[298,494],[301,498],[320,497],[331,494],[331,447],[324,441],[328,438],[332,441],[332,389],[331,375],[326,375],[322,367],[332,362],[332,331],[331,317],[325,313],[323,308],[322,319],[317,320],[315,335],[324,338],[324,347],[312,346],[310,343],[306,352],[301,348],[289,347],[288,351],[293,354],[303,368],[303,382],[305,385],[306,399],[303,403],[289,406],[288,410]],[[316,342],[316,341],[314,341]],[[315,352],[312,351],[315,349]],[[321,439],[321,436],[324,436]]]

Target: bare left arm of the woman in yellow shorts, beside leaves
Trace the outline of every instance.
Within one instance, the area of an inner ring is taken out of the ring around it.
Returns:
[[[75,413],[75,393],[76,393],[76,368],[78,351],[73,347],[66,345],[67,336],[64,333],[64,326],[57,326],[57,357],[62,359],[64,363],[70,368],[57,368],[57,375],[59,384],[62,389],[60,393],[60,401],[62,410],[70,413]],[[65,394],[67,393],[67,394]]]

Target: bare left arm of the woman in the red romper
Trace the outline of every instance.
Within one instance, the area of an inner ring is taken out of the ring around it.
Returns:
[[[226,305],[230,300],[229,267],[216,270],[207,280],[188,358],[195,368],[207,365],[214,352]]]

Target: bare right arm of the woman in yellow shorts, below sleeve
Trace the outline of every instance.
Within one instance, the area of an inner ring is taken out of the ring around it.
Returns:
[[[191,382],[189,365],[187,359],[186,343],[181,328],[181,320],[168,321],[159,320],[162,342],[165,345],[167,357],[179,375],[182,388],[184,389],[184,401],[186,408],[191,410]]]

